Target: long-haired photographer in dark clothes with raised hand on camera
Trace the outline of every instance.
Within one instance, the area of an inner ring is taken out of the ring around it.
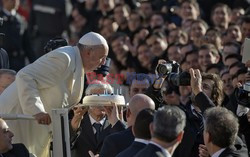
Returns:
[[[203,112],[213,106],[220,106],[223,100],[222,81],[215,74],[201,74],[198,69],[190,69],[192,104],[184,106],[187,116],[184,137],[174,153],[174,157],[198,157],[199,145],[203,141]]]

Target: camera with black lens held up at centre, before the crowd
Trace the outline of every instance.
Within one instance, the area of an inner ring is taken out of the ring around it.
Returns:
[[[180,65],[176,61],[168,61],[166,64],[159,64],[156,68],[161,76],[167,76],[166,80],[171,86],[189,86],[191,76],[188,72],[180,72]]]

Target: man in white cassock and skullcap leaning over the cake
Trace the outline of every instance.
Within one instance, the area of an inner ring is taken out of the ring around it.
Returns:
[[[16,81],[0,95],[0,114],[33,115],[36,121],[8,121],[15,134],[13,142],[24,143],[38,157],[47,157],[51,110],[78,104],[84,72],[104,64],[107,55],[106,40],[90,32],[76,46],[53,50],[21,69]]]

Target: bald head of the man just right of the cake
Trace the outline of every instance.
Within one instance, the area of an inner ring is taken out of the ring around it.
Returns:
[[[150,108],[155,109],[154,101],[145,94],[136,94],[134,95],[130,101],[127,112],[127,121],[128,126],[133,126],[135,123],[135,119],[137,114],[143,109]]]

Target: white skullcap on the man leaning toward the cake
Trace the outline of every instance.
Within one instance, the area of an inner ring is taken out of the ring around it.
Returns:
[[[82,36],[81,39],[79,40],[79,44],[89,45],[89,46],[105,45],[108,47],[106,39],[104,39],[102,35],[95,32],[89,32],[84,36]]]

